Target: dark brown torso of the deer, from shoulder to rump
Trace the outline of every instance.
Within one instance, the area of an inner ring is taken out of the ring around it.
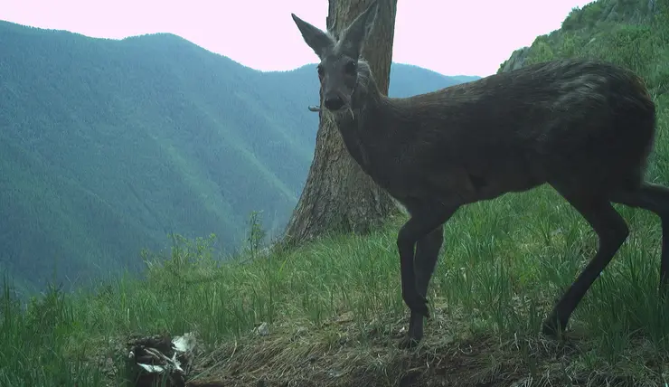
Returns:
[[[391,103],[406,169],[485,197],[569,179],[640,184],[655,137],[643,81],[600,61],[535,64]]]

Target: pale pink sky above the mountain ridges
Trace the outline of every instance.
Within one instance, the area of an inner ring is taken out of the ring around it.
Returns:
[[[0,0],[0,20],[124,38],[174,33],[262,71],[316,62],[290,17],[325,28],[327,0]],[[588,0],[399,0],[392,60],[485,76]]]

